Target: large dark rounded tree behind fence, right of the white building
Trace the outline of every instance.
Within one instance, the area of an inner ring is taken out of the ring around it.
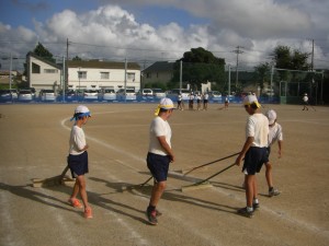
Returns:
[[[216,85],[225,81],[225,60],[202,47],[184,52],[183,57],[174,63],[173,82],[180,80],[180,61],[183,62],[182,80],[190,83],[194,90],[200,89],[201,83],[206,81],[215,82]]]

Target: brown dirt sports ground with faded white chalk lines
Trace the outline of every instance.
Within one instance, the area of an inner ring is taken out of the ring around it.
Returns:
[[[274,185],[268,197],[264,168],[257,176],[261,208],[252,219],[246,206],[241,168],[212,179],[213,187],[181,191],[182,186],[229,166],[228,159],[188,177],[189,171],[241,150],[247,114],[240,105],[218,110],[177,110],[170,125],[177,161],[158,209],[159,224],[146,222],[150,186],[121,191],[149,178],[148,127],[155,104],[88,104],[84,127],[90,172],[87,188],[93,219],[67,203],[71,186],[33,188],[32,178],[59,175],[66,166],[69,118],[77,105],[0,105],[0,245],[329,245],[329,108],[264,105],[279,115],[284,131],[283,157],[272,148]],[[222,106],[222,105],[220,105]],[[151,185],[151,181],[150,181]]]

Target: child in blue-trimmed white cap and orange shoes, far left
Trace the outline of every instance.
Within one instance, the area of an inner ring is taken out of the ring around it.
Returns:
[[[78,194],[80,194],[84,207],[84,218],[87,219],[92,218],[92,211],[88,203],[88,196],[86,191],[84,174],[89,172],[87,153],[89,145],[86,143],[82,126],[87,124],[89,117],[91,117],[91,114],[88,107],[80,105],[76,108],[75,115],[71,118],[71,120],[75,120],[76,122],[71,129],[69,139],[69,155],[67,157],[71,175],[76,178],[73,191],[69,198],[69,203],[75,208],[82,208],[82,204],[77,199]]]

